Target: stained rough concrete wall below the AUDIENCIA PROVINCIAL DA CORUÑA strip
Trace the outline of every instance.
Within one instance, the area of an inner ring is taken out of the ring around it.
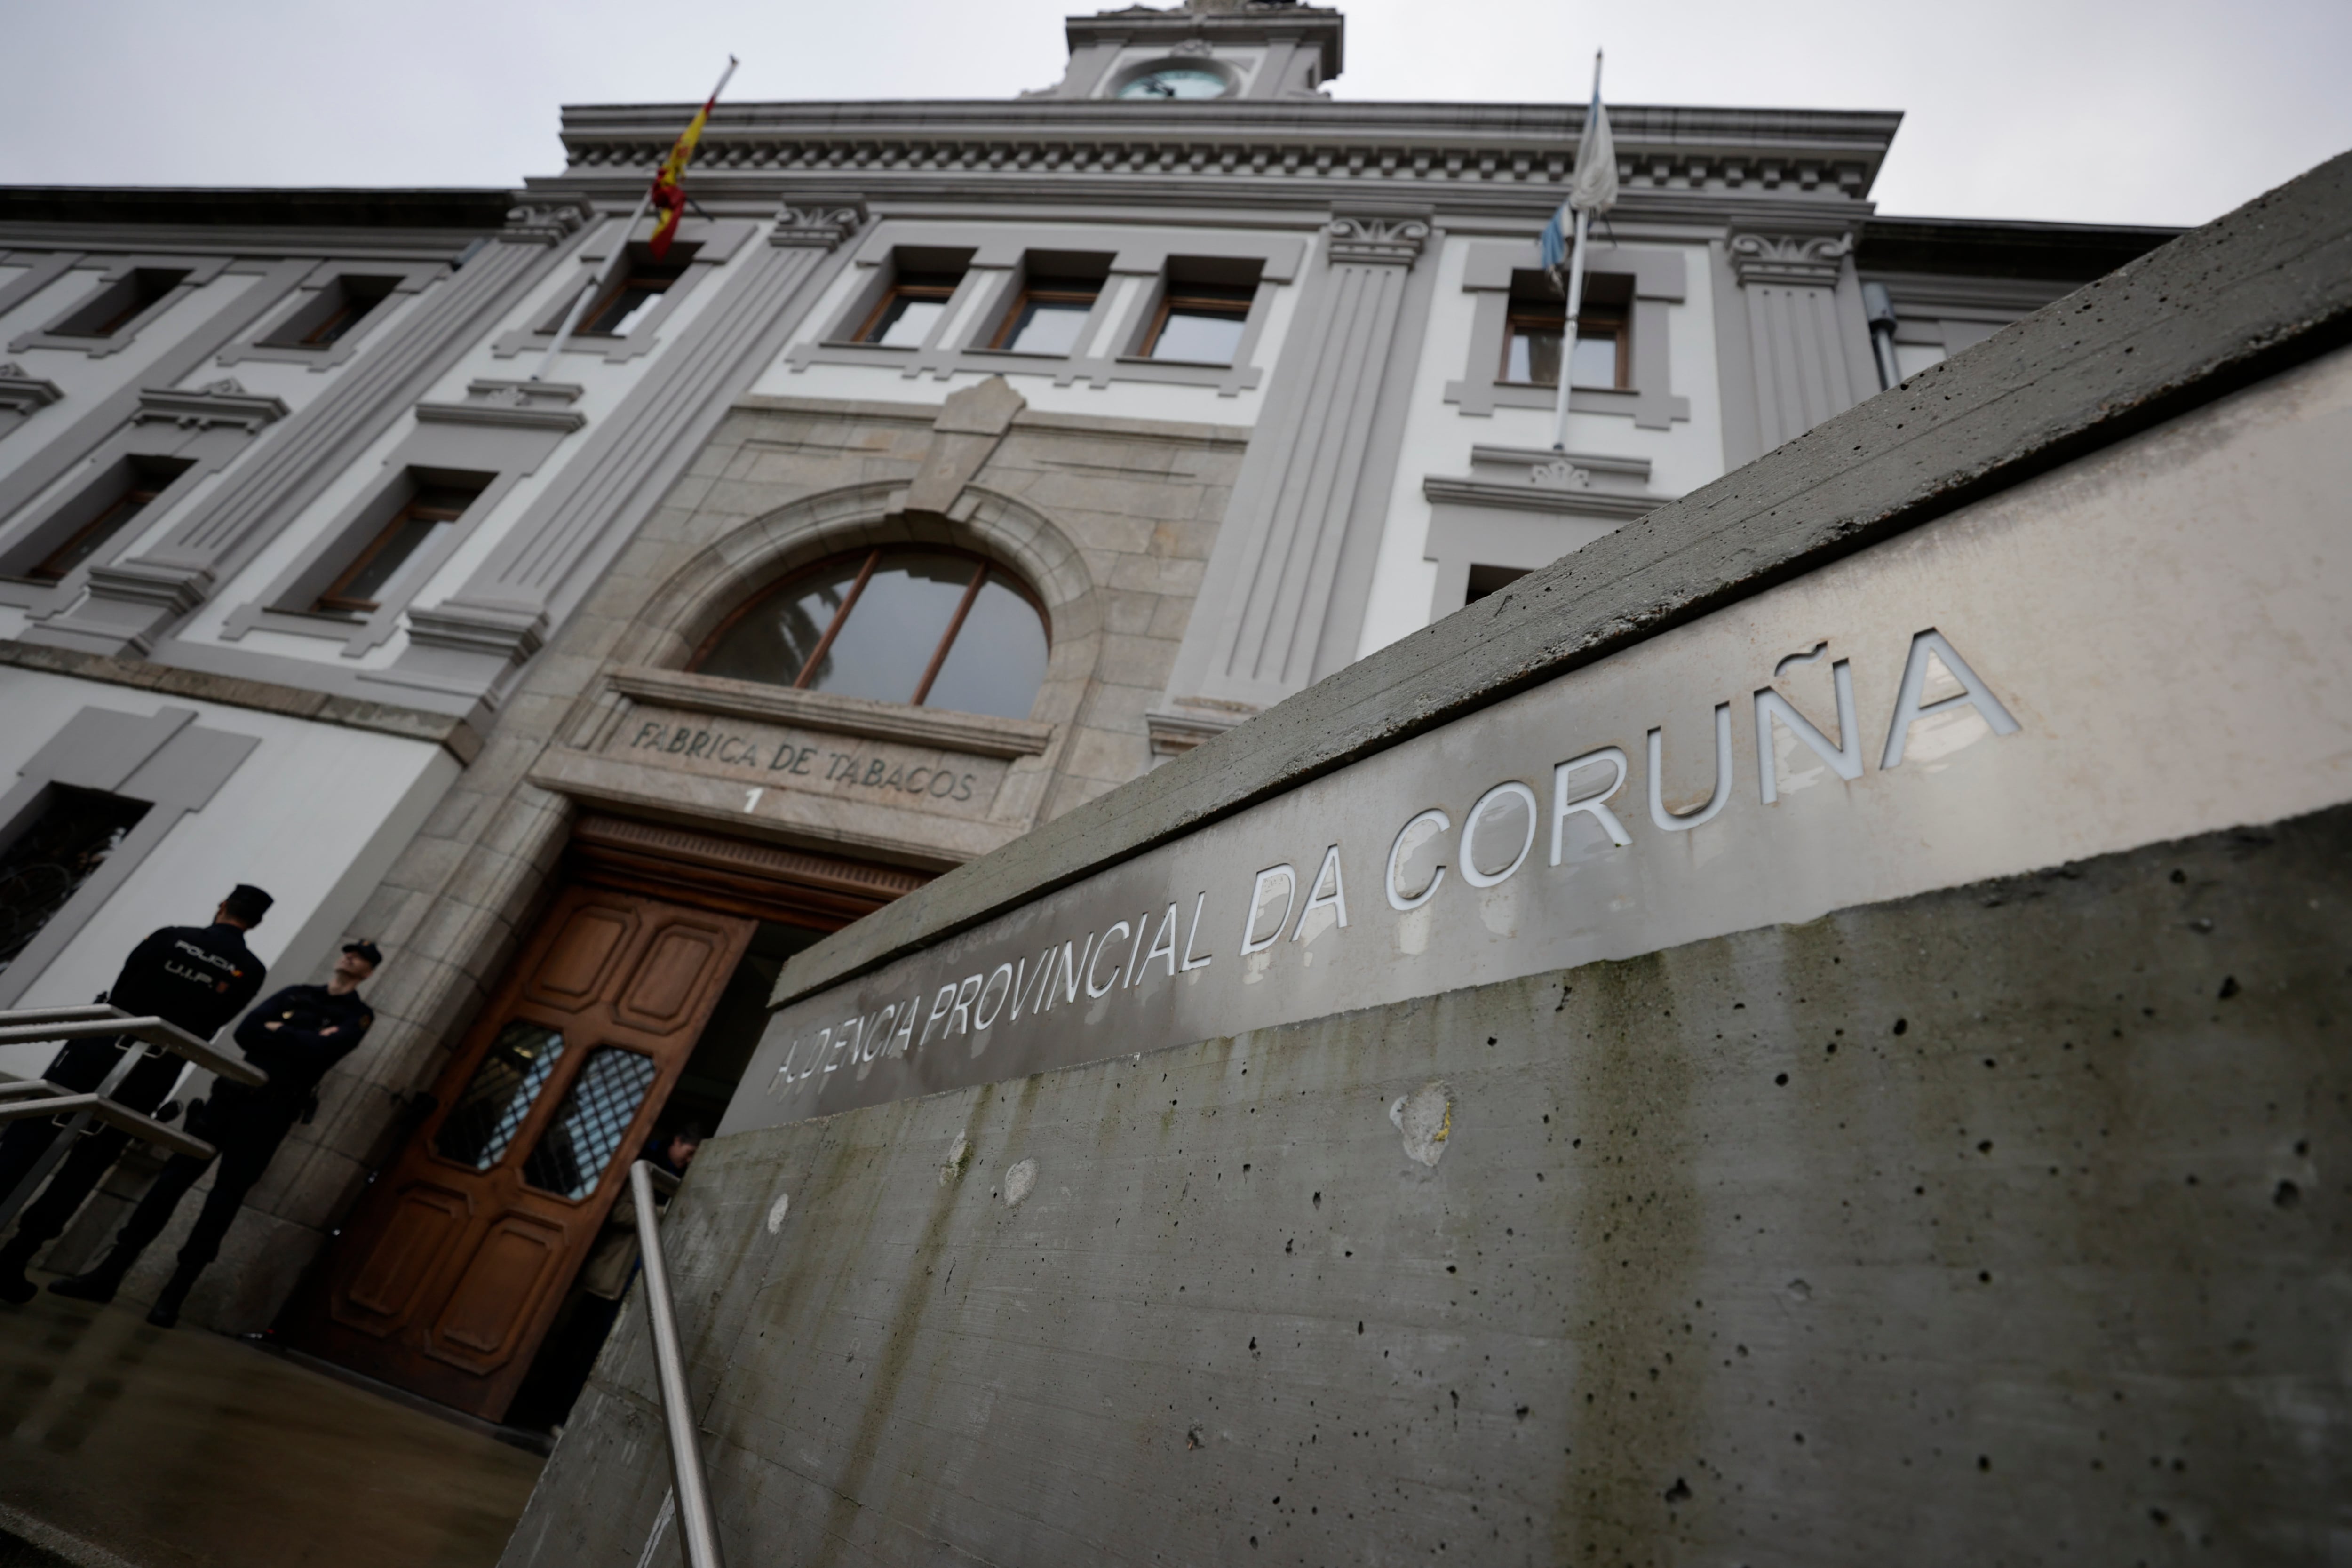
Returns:
[[[2333,809],[717,1140],[729,1561],[2331,1561],[2347,907]],[[649,1396],[506,1563],[637,1561]]]

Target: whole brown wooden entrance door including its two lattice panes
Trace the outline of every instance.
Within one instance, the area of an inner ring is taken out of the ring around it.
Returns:
[[[289,1342],[501,1420],[755,924],[560,893]]]

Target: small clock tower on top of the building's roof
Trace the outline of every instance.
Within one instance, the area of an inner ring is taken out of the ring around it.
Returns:
[[[1261,0],[1131,5],[1070,16],[1070,68],[1040,99],[1197,103],[1319,99],[1341,71],[1345,19],[1329,7]]]

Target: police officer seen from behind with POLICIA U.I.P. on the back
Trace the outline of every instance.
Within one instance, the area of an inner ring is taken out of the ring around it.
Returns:
[[[245,933],[261,924],[270,903],[275,900],[261,889],[240,884],[214,910],[209,926],[165,926],[132,947],[103,999],[127,1013],[162,1018],[198,1039],[212,1039],[223,1023],[245,1011],[268,976],[261,959],[245,947]],[[42,1077],[73,1093],[89,1093],[106,1081],[125,1048],[146,1051],[136,1039],[78,1039],[56,1053]],[[186,1065],[165,1051],[146,1056],[115,1084],[111,1098],[153,1114]],[[47,1117],[16,1121],[0,1135],[0,1199],[16,1190],[56,1135],[59,1126]],[[66,1229],[73,1211],[127,1145],[129,1133],[111,1126],[92,1128],[75,1140],[42,1194],[26,1204],[16,1234],[0,1246],[0,1302],[21,1307],[33,1300],[33,1281],[24,1276],[26,1265]]]

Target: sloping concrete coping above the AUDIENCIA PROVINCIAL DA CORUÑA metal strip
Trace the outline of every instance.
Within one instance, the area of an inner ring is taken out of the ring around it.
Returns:
[[[795,954],[804,997],[2352,336],[2352,153]]]

